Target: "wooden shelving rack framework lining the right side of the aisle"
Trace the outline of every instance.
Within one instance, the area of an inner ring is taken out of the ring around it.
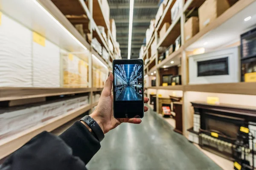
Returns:
[[[148,59],[149,62],[144,66],[145,75],[149,80],[149,77],[153,74],[156,77],[156,86],[154,87],[145,87],[146,89],[155,89],[156,92],[156,101],[157,101],[157,113],[159,113],[158,103],[159,103],[159,90],[170,90],[170,91],[182,91],[183,92],[183,135],[187,136],[186,129],[191,127],[192,120],[186,120],[190,117],[189,108],[190,103],[187,101],[186,92],[187,91],[197,91],[197,92],[209,92],[209,93],[220,93],[220,94],[243,94],[243,95],[256,95],[256,82],[238,82],[238,83],[216,83],[216,84],[199,84],[199,85],[189,85],[189,70],[188,70],[188,57],[192,55],[192,51],[197,48],[204,47],[204,42],[210,42],[210,37],[220,37],[221,32],[223,31],[223,24],[226,21],[232,20],[234,17],[238,17],[241,11],[244,11],[245,8],[249,7],[254,3],[255,0],[229,0],[232,3],[232,6],[228,8],[223,14],[221,14],[214,21],[209,23],[208,26],[200,30],[194,37],[184,41],[184,24],[186,22],[186,14],[189,13],[190,9],[200,7],[205,0],[181,0],[182,10],[180,10],[180,14],[178,14],[177,18],[172,21],[171,25],[167,29],[164,37],[159,40],[158,33],[163,27],[163,24],[166,22],[171,22],[171,8],[174,5],[176,0],[168,0],[166,8],[163,11],[163,15],[161,16],[159,22],[155,26],[154,33],[152,34],[149,43],[145,46],[145,51],[142,55],[142,59]],[[241,16],[241,18],[245,18],[247,16]],[[243,19],[244,19],[243,18]],[[240,21],[241,23],[237,23],[238,25],[243,25],[243,19]],[[221,30],[222,29],[222,30]],[[230,28],[226,28],[229,30]],[[174,44],[175,39],[181,35],[181,45],[177,51],[174,51],[169,56],[166,56],[163,61],[158,62],[158,48],[160,46],[169,46]],[[239,37],[239,34],[238,34]],[[153,40],[157,41],[157,47],[155,50],[155,55],[151,56],[151,44]],[[217,46],[212,46],[209,48],[209,51],[213,51],[215,49],[221,48],[222,44],[216,43]],[[234,42],[234,40],[230,40],[230,43],[227,43],[227,47],[237,46],[239,45],[239,39]],[[181,75],[182,75],[182,85],[175,86],[160,86],[160,68],[163,68],[164,65],[170,65],[169,62],[175,58],[179,58],[181,61]],[[155,74],[154,74],[155,72]]]

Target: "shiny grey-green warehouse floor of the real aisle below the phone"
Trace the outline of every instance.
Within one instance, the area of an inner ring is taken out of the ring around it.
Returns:
[[[105,135],[89,170],[221,170],[153,111],[140,125],[122,124]]]

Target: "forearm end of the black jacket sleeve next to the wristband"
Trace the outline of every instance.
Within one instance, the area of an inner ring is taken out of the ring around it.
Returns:
[[[73,150],[73,155],[78,156],[85,164],[100,149],[100,143],[81,122],[77,121],[60,135]]]

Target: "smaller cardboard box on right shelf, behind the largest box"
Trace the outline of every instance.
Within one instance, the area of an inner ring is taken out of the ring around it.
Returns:
[[[199,32],[198,17],[190,17],[184,26],[185,42],[190,38],[192,38],[198,32]]]

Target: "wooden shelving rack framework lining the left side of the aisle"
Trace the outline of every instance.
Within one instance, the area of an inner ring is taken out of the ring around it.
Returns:
[[[13,2],[12,2],[13,1]],[[58,3],[63,3],[62,0],[58,0]],[[89,87],[88,88],[22,88],[22,87],[3,87],[0,88],[0,101],[26,101],[27,99],[38,99],[45,98],[48,96],[59,96],[59,95],[69,95],[69,94],[80,94],[88,93],[90,103],[89,105],[77,108],[73,111],[65,113],[61,116],[52,118],[40,125],[29,128],[23,132],[17,133],[13,136],[7,137],[0,140],[0,159],[11,154],[13,151],[17,150],[23,144],[29,141],[33,136],[41,133],[44,130],[52,131],[61,125],[69,122],[70,120],[76,118],[84,112],[91,111],[98,102],[92,102],[92,95],[94,93],[99,93],[103,88],[93,87],[93,71],[92,67],[95,64],[93,62],[93,57],[99,59],[105,70],[112,70],[113,59],[119,59],[117,52],[116,42],[113,39],[113,35],[110,31],[110,26],[108,21],[102,13],[102,5],[100,0],[88,0],[86,3],[84,0],[69,0],[65,3],[77,3],[81,6],[84,12],[84,18],[88,20],[88,29],[93,37],[94,35],[99,42],[102,42],[108,53],[110,54],[109,61],[105,61],[88,43],[84,37],[76,30],[76,28],[70,23],[67,17],[60,11],[51,0],[31,0],[27,3],[23,3],[17,0],[1,1],[0,11],[8,15],[12,19],[26,26],[32,31],[41,34],[47,40],[55,43],[58,47],[69,51],[70,53],[81,53],[88,55],[88,65],[89,65]],[[73,4],[74,5],[74,4]],[[23,8],[20,8],[23,6]],[[70,4],[67,8],[72,8]],[[22,14],[22,17],[21,15]],[[33,16],[33,17],[31,17]],[[103,38],[102,34],[99,32],[97,26],[104,26],[107,31],[108,39],[111,40],[113,44],[113,52],[110,51],[108,43]],[[95,30],[95,31],[93,31]],[[107,74],[107,73],[106,73]]]

